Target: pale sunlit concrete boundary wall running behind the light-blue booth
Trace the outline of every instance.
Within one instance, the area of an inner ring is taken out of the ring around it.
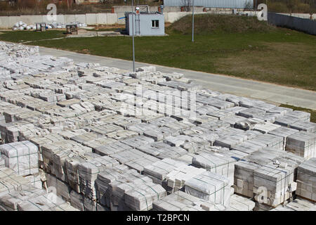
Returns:
[[[204,13],[213,13],[213,14],[232,14],[232,11],[208,11],[208,12],[196,12],[195,14],[204,14]],[[251,13],[254,12],[244,12]],[[164,13],[164,21],[166,23],[173,23],[176,20],[182,18],[185,15],[191,15],[192,12],[167,12]],[[72,23],[80,22],[86,23],[87,25],[113,25],[113,24],[125,24],[124,13],[87,13],[87,14],[73,14],[73,15],[57,15],[58,23]],[[119,19],[121,18],[121,19]],[[34,25],[35,23],[46,22],[48,21],[46,15],[20,15],[20,16],[0,16],[0,28],[2,29],[11,29],[15,23],[23,21],[28,25]]]

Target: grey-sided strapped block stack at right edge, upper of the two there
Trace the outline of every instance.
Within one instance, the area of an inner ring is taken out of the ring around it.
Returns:
[[[287,136],[285,149],[306,160],[313,158],[316,155],[316,134],[300,131]]]

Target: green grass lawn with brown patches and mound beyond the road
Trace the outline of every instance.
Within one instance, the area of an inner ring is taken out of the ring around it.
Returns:
[[[218,18],[197,16],[194,43],[187,23],[190,17],[167,27],[167,37],[136,37],[136,61],[316,91],[316,36],[271,27],[255,18],[227,17],[221,19],[225,23],[217,23]],[[131,37],[43,40],[63,35],[61,31],[2,32],[0,40],[32,40],[28,44],[132,59]]]

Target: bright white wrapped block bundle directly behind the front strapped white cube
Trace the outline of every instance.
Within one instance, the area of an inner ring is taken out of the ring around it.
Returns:
[[[192,159],[194,166],[226,176],[230,186],[234,184],[235,162],[234,158],[225,153],[199,153]]]

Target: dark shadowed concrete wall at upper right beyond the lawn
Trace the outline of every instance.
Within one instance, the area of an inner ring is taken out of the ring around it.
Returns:
[[[316,20],[303,19],[278,13],[268,13],[268,22],[279,27],[287,27],[316,35]]]

